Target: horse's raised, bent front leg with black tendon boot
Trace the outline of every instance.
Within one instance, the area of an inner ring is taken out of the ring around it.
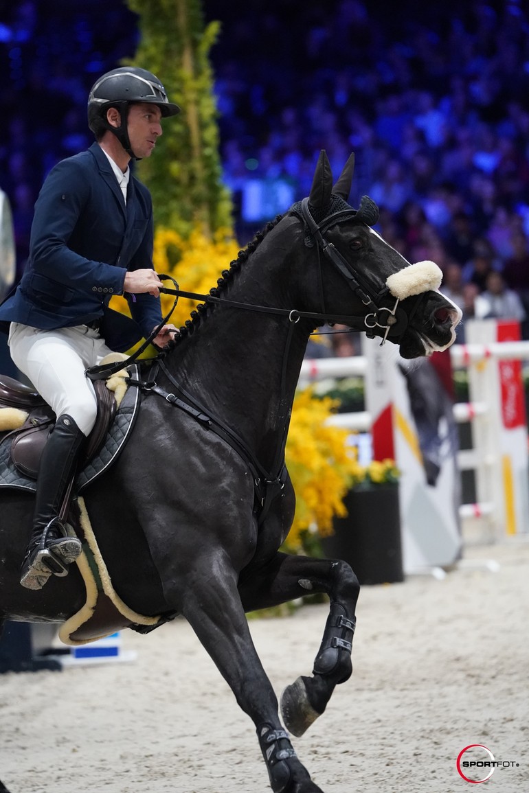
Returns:
[[[359,584],[350,565],[277,553],[259,569],[253,565],[241,578],[239,591],[245,611],[296,600],[308,592],[325,592],[330,612],[312,676],[301,676],[283,691],[283,720],[294,735],[302,735],[320,716],[335,686],[349,679]]]

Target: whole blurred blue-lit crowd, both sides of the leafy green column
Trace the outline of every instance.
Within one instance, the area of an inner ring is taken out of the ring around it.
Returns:
[[[335,175],[355,151],[351,202],[377,201],[385,239],[412,262],[437,262],[465,316],[519,319],[529,338],[527,3],[205,0],[204,10],[222,22],[211,57],[240,241],[309,192],[321,148]],[[132,56],[136,36],[121,2],[22,0],[0,17],[0,187],[19,263],[49,167],[90,144],[94,76]]]

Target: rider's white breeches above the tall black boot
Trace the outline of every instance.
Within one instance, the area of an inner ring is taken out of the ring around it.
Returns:
[[[15,366],[29,377],[56,416],[67,413],[89,435],[97,402],[85,370],[111,352],[98,331],[86,325],[41,331],[13,322],[8,343]]]

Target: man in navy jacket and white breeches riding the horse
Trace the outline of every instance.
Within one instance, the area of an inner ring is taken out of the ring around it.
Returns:
[[[95,82],[88,99],[95,143],[48,175],[36,201],[28,265],[0,306],[13,362],[57,416],[40,462],[21,569],[28,589],[42,588],[52,573],[66,575],[81,553],[58,515],[96,419],[86,368],[132,347],[163,321],[151,195],[129,162],[150,157],[161,119],[178,111],[144,69],[114,69]],[[127,297],[133,320],[109,309],[114,294]],[[164,347],[171,332],[176,328],[164,325],[153,343]]]

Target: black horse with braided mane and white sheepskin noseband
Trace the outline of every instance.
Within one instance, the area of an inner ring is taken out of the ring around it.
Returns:
[[[460,318],[437,290],[439,268],[410,265],[386,244],[370,228],[378,210],[369,198],[358,210],[347,204],[353,163],[351,155],[333,187],[321,152],[309,198],[224,270],[213,304],[194,312],[160,359],[158,392],[199,416],[151,390],[121,457],[85,496],[118,594],[141,614],[188,620],[254,722],[275,793],[320,787],[279,720],[245,612],[307,592],[330,599],[312,676],[282,696],[285,725],[300,735],[351,675],[358,598],[345,562],[278,550],[293,519],[284,448],[309,335],[339,322],[416,358],[448,347]],[[40,592],[22,588],[31,498],[0,495],[0,619],[67,619],[84,599],[77,569]]]

